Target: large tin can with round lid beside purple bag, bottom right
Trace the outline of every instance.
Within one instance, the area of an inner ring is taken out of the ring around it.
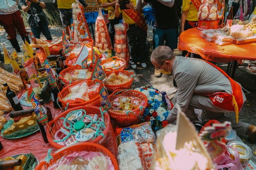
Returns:
[[[227,145],[236,148],[236,150],[239,152],[240,162],[243,168],[245,168],[252,157],[251,148],[245,145],[244,143],[238,142],[238,141],[230,141],[228,142]],[[235,150],[233,148],[227,148],[227,151],[225,152],[225,154],[230,158],[232,158],[233,160],[235,160]]]

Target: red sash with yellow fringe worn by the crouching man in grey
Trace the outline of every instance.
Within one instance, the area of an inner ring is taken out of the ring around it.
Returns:
[[[205,94],[198,94],[198,95],[209,96],[213,106],[219,109],[236,112],[236,123],[237,123],[238,113],[244,104],[242,87],[236,81],[234,81],[231,77],[229,77],[228,74],[225,73],[222,69],[220,69],[219,67],[215,66],[214,64],[208,61],[205,61],[205,62],[215,67],[217,70],[219,70],[222,74],[224,74],[228,78],[232,87],[232,92],[231,92],[232,94],[226,93],[226,92],[216,92],[208,95],[205,95]]]

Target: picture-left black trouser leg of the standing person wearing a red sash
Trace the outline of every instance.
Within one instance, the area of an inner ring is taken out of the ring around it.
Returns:
[[[129,51],[130,51],[130,64],[134,66],[138,62],[138,57],[135,53],[135,46],[136,46],[135,26],[129,26],[129,30],[127,31],[127,40],[128,40]],[[134,66],[134,68],[136,67]]]

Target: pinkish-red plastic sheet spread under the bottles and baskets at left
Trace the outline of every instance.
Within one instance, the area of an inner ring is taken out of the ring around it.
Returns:
[[[37,50],[37,53],[41,63],[43,63],[43,57],[41,55],[40,50]],[[28,60],[26,65],[24,65],[28,70],[29,77],[33,73],[36,73],[36,68],[31,68],[30,64],[31,62],[30,60]],[[39,85],[35,83],[33,80],[30,82],[32,87],[39,87]],[[17,93],[18,98],[20,99],[20,97],[23,96],[25,92],[26,92],[25,89],[22,89],[20,92],[18,92]],[[53,118],[62,112],[60,109],[55,109],[53,107],[52,101],[50,103],[46,103],[46,106],[50,107]],[[26,106],[22,106],[22,107],[23,109],[30,109],[30,107],[26,107]],[[64,107],[62,109],[64,110]],[[57,149],[52,147],[52,145],[50,145],[49,143],[44,143],[44,140],[40,131],[19,139],[4,139],[0,137],[0,141],[4,146],[4,149],[0,151],[0,158],[5,158],[7,156],[12,156],[20,153],[31,152],[41,162],[47,156],[47,152],[49,149],[52,149],[52,153],[57,151]],[[105,147],[110,152],[112,152],[116,157],[117,143],[116,143],[116,137],[115,137],[115,133],[112,128],[112,125],[110,126],[110,129],[108,131],[107,142]]]

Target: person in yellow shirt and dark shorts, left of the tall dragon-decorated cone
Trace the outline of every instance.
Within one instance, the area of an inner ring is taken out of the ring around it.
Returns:
[[[58,8],[60,11],[60,19],[62,25],[65,27],[65,33],[69,35],[68,26],[71,26],[72,18],[72,3],[75,3],[76,0],[57,0]],[[70,27],[71,28],[71,27]]]

